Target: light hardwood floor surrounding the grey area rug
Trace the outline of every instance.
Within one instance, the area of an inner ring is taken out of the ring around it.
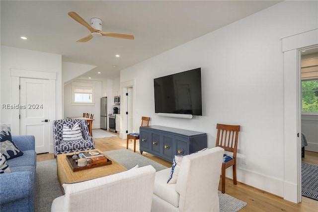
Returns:
[[[119,137],[95,139],[94,141],[95,147],[101,151],[126,148],[126,140]],[[133,151],[133,141],[129,142],[129,149]],[[138,149],[139,143],[137,141],[136,152],[140,154]],[[143,152],[142,155],[167,167],[171,167],[172,165],[147,152]],[[37,161],[50,159],[54,159],[53,153],[38,154],[37,156]],[[318,153],[306,151],[303,162],[318,165]],[[221,191],[221,184],[219,190]],[[233,185],[232,179],[226,179],[225,192],[247,203],[240,212],[318,212],[318,201],[316,200],[302,197],[302,203],[295,204],[240,182],[238,182],[238,185]]]

